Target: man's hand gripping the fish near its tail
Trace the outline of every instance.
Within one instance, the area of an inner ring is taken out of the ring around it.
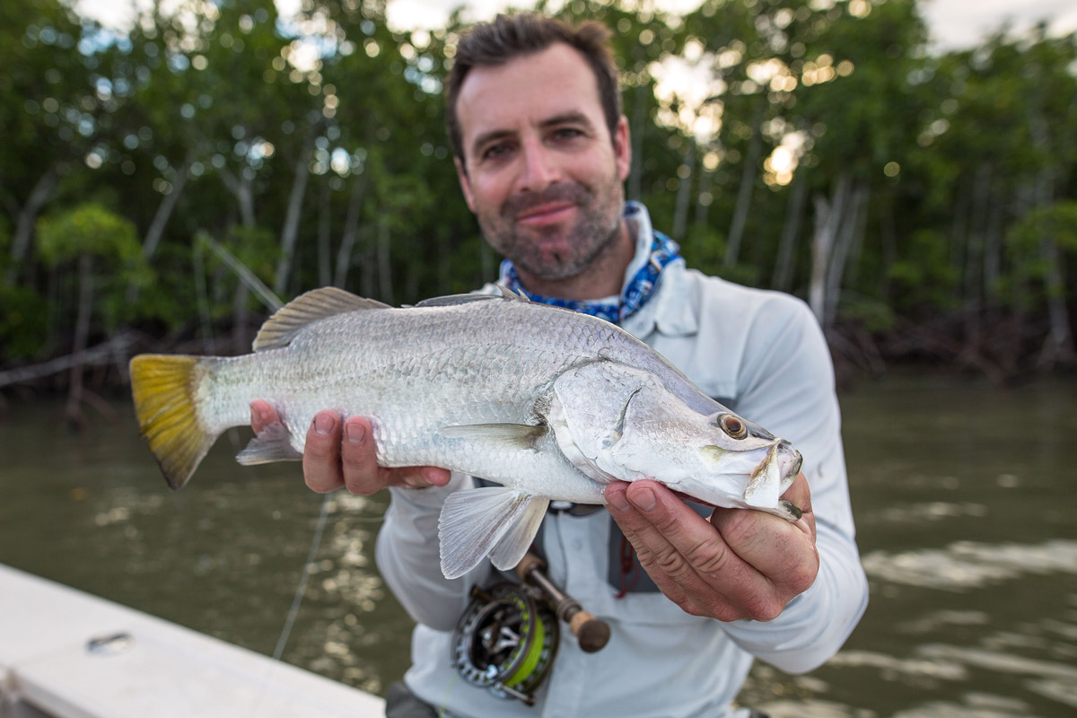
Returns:
[[[268,402],[251,402],[251,428],[255,434],[279,421]],[[449,482],[449,471],[435,466],[378,466],[368,419],[349,417],[341,432],[339,414],[320,411],[307,430],[303,478],[318,493],[347,487],[353,494],[369,496],[387,487],[444,487]]]

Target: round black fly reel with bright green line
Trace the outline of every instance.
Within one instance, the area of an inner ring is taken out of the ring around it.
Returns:
[[[534,704],[557,653],[557,616],[517,583],[475,588],[472,596],[452,636],[453,665],[473,686]]]

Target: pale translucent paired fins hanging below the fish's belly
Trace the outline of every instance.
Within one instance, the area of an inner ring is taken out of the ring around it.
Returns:
[[[459,578],[488,554],[498,568],[513,568],[531,546],[548,504],[504,487],[451,494],[437,522],[442,573]]]

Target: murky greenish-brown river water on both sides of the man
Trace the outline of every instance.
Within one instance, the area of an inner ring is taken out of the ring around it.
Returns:
[[[125,403],[90,430],[12,402],[0,424],[0,562],[270,654],[323,497],[297,464],[239,467],[222,438],[165,487]],[[757,663],[774,718],[1077,715],[1077,382],[1009,391],[895,377],[842,396],[871,604],[808,676]],[[89,411],[93,411],[89,409]],[[386,498],[332,494],[284,660],[383,693],[411,621],[374,566]]]

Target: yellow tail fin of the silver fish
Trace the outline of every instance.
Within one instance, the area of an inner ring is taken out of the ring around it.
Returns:
[[[198,366],[196,356],[169,354],[139,354],[130,362],[139,430],[172,489],[187,482],[216,440],[198,419]]]

